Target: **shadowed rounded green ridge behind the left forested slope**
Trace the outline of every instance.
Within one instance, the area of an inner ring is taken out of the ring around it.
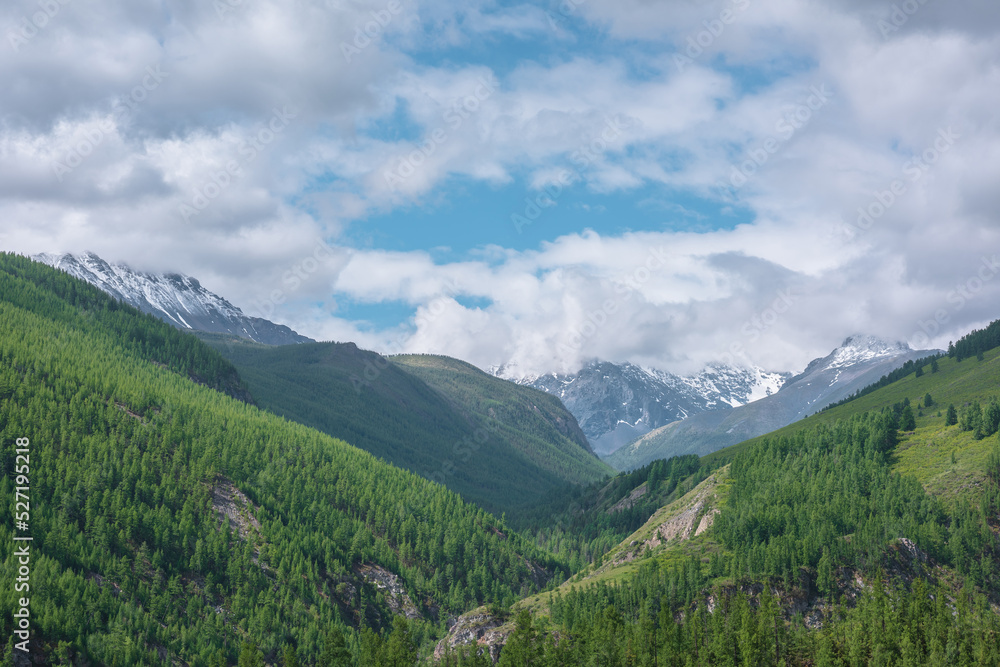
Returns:
[[[353,343],[267,347],[206,337],[263,408],[445,484],[511,518],[552,489],[612,474],[558,399],[445,357]]]

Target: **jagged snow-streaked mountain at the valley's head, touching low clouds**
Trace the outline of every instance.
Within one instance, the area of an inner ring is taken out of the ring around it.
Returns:
[[[607,361],[593,361],[573,374],[526,375],[515,365],[490,372],[558,396],[598,455],[608,455],[664,424],[768,396],[789,377],[759,368],[716,365],[683,378]]]

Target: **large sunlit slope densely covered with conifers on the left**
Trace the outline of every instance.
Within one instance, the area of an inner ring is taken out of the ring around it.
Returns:
[[[412,664],[450,614],[560,573],[444,487],[204,385],[238,377],[197,339],[0,255],[5,581],[33,538],[0,632],[30,598],[37,664],[312,665],[345,636],[358,664]]]

